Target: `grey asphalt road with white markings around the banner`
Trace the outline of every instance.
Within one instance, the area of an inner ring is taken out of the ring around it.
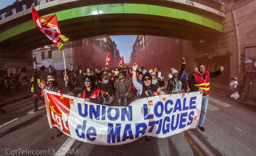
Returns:
[[[66,88],[63,92],[69,93]],[[151,137],[150,143],[141,137],[118,146],[93,145],[77,140],[70,143],[65,134],[56,141],[50,141],[49,137],[57,132],[50,129],[41,101],[38,103],[39,111],[32,112],[34,101],[30,97],[3,107],[6,113],[0,114],[0,155],[54,155],[63,145],[70,144],[66,155],[255,156],[255,108],[222,98],[218,94],[210,94],[204,132],[191,129],[167,138]]]

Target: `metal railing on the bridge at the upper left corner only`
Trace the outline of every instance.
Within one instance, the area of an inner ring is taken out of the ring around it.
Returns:
[[[21,12],[23,10],[47,3],[47,2],[51,2],[54,0],[22,0],[19,2],[14,2],[12,5],[7,6],[4,9],[0,10],[0,20],[14,15],[18,12]]]

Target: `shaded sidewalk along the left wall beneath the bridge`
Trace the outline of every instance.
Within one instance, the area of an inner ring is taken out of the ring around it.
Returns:
[[[4,89],[3,92],[5,95],[3,95],[3,102],[0,101],[0,107],[6,106],[16,101],[20,101],[22,99],[32,97],[32,94],[28,85],[20,86],[20,88],[21,88],[21,91],[16,91],[15,88],[11,88],[11,93],[12,93],[11,97],[7,95]]]

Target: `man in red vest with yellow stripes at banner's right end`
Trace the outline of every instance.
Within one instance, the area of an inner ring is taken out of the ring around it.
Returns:
[[[191,80],[189,82],[189,88],[191,89],[191,91],[200,91],[200,93],[203,94],[201,114],[198,123],[198,128],[202,131],[205,131],[203,124],[206,117],[206,110],[209,100],[208,95],[210,91],[210,78],[214,78],[220,75],[223,72],[223,69],[224,67],[220,66],[218,71],[212,73],[205,71],[205,65],[200,64],[198,65],[198,72],[193,73]]]

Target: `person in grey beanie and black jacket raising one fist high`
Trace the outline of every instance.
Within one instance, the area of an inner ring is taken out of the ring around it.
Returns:
[[[182,66],[179,73],[176,69],[173,69],[171,71],[171,75],[173,77],[169,79],[168,85],[167,85],[167,92],[169,94],[182,93],[182,79],[180,77],[182,76],[183,71],[185,69],[185,64],[186,64],[185,61],[186,61],[186,58],[183,56]]]

